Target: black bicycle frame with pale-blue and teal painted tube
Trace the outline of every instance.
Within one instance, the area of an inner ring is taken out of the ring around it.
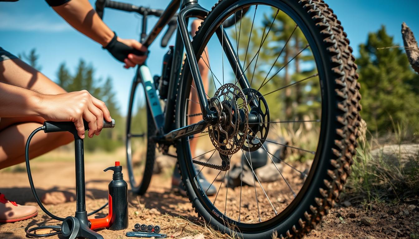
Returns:
[[[151,33],[147,37],[145,37],[146,26],[143,21],[143,32],[141,34],[141,42],[143,45],[147,47],[153,44],[153,41],[162,31],[164,26],[166,26],[169,23],[169,21],[176,13],[178,8],[180,8],[177,18],[178,29],[176,31],[176,42],[174,46],[173,62],[168,88],[168,98],[165,108],[166,115],[163,115],[163,112],[161,110],[160,101],[158,95],[156,94],[156,89],[153,82],[153,77],[151,77],[150,70],[146,64],[137,67],[137,75],[132,83],[133,85],[130,95],[131,98],[134,97],[135,88],[137,84],[142,83],[145,89],[147,103],[153,116],[155,126],[159,130],[160,135],[162,135],[161,139],[168,142],[200,133],[209,124],[214,125],[218,117],[217,112],[211,111],[209,109],[209,105],[205,96],[204,86],[202,84],[202,79],[197,64],[198,56],[194,53],[192,49],[191,39],[189,38],[187,24],[188,18],[199,18],[203,20],[204,17],[208,14],[208,10],[202,8],[198,4],[198,0],[172,0],[171,3],[169,3],[166,10],[164,10],[163,14],[160,16],[158,22],[153,27]],[[146,17],[146,15],[144,17]],[[238,74],[236,74],[236,80],[242,88],[249,88],[250,84],[248,83],[248,80],[243,74],[243,68],[238,62],[238,57],[236,56],[233,50],[234,48],[231,45],[231,42],[228,39],[227,34],[225,33],[222,26],[219,26],[217,28],[216,34],[220,43],[223,42],[223,50],[228,58],[231,67],[234,67],[233,69],[238,69]],[[175,104],[177,97],[176,87],[179,81],[181,80],[179,75],[181,71],[184,48],[186,51],[186,60],[188,61],[188,65],[191,69],[191,75],[197,88],[199,105],[201,107],[203,120],[199,121],[198,123],[185,126],[183,128],[173,129],[173,121],[175,117],[173,115],[173,111],[176,107]],[[132,101],[130,101],[129,108],[132,108]],[[127,117],[131,118],[130,113]],[[127,127],[129,127],[129,125],[127,125]],[[127,132],[130,132],[129,130],[130,129],[127,128]]]

